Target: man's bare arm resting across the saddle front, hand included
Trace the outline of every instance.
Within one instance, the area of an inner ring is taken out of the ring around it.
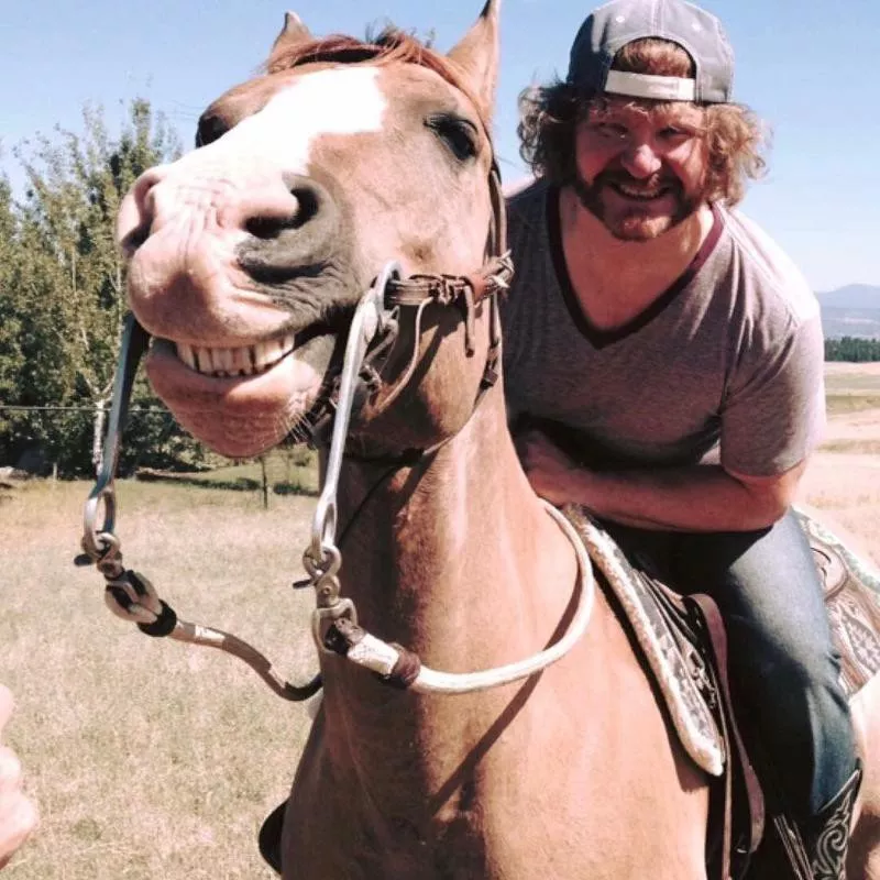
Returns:
[[[517,447],[532,488],[552,504],[580,504],[605,519],[670,531],[767,528],[789,508],[806,464],[771,477],[718,464],[597,472],[575,465],[539,432],[518,439]]]

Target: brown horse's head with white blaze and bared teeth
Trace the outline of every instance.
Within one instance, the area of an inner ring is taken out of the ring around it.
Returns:
[[[404,275],[484,263],[498,2],[447,56],[398,32],[315,40],[288,13],[265,73],[216,100],[198,148],[125,198],[129,298],[155,337],[148,375],[208,446],[245,457],[296,432],[388,261]],[[360,430],[395,449],[461,427],[487,344],[488,308],[475,311],[475,356],[455,309],[429,308],[420,340],[402,326],[389,377],[407,341],[431,369],[413,377],[405,424],[386,414],[371,427],[366,407]]]

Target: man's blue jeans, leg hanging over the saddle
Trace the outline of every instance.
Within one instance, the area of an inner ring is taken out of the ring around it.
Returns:
[[[737,718],[766,788],[781,799],[770,806],[798,821],[815,816],[853,773],[856,749],[822,584],[794,515],[755,532],[603,525],[672,588],[715,600]]]

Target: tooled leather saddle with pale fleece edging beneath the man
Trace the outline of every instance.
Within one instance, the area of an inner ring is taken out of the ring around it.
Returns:
[[[600,575],[608,603],[629,636],[683,748],[711,778],[708,877],[741,878],[765,827],[761,787],[739,734],[727,684],[727,645],[715,603],[681,596],[632,561],[580,508],[564,513]],[[850,698],[880,671],[880,574],[836,536],[795,512],[825,588],[842,684]],[[280,873],[286,802],[260,829],[263,858]]]

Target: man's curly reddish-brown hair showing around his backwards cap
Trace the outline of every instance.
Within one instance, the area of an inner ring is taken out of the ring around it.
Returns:
[[[638,40],[624,46],[614,59],[614,69],[659,76],[693,76],[690,55],[666,40]],[[535,86],[519,96],[520,122],[517,128],[519,154],[531,172],[553,184],[564,185],[575,177],[574,136],[578,125],[591,112],[607,106],[607,97],[584,94],[559,79]],[[644,102],[634,100],[644,107]],[[651,108],[669,107],[668,101],[651,101]],[[744,105],[703,105],[702,138],[706,143],[707,169],[703,197],[707,201],[736,205],[746,194],[749,179],[763,173],[762,152],[769,140],[766,127]]]

